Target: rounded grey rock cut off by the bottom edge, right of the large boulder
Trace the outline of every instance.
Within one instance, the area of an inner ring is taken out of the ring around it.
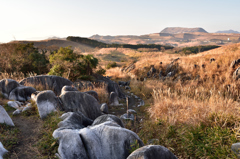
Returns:
[[[133,151],[127,159],[177,159],[166,147],[147,145]]]

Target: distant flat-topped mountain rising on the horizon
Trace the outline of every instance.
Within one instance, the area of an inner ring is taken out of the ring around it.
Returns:
[[[163,29],[160,33],[178,34],[178,33],[192,33],[192,32],[208,33],[203,28],[181,28],[181,27],[167,27]]]

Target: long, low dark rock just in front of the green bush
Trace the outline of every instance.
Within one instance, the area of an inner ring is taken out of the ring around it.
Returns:
[[[28,77],[20,81],[20,84],[27,85],[41,85],[45,90],[53,90],[56,95],[61,94],[61,90],[63,86],[71,86],[73,83],[59,76],[48,76],[48,75],[39,75],[34,77]]]

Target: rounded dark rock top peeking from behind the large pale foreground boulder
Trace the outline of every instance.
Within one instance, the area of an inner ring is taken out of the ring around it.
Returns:
[[[100,117],[96,118],[96,119],[93,121],[92,126],[102,124],[102,123],[104,123],[104,122],[106,122],[106,121],[115,122],[115,123],[117,123],[119,126],[121,126],[122,128],[124,128],[124,125],[123,125],[121,119],[119,119],[117,116],[112,115],[112,114],[104,114],[104,115],[101,115]]]

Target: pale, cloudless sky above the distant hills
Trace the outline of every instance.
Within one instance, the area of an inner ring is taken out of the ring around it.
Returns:
[[[0,42],[144,35],[166,27],[240,31],[239,0],[0,0]]]

